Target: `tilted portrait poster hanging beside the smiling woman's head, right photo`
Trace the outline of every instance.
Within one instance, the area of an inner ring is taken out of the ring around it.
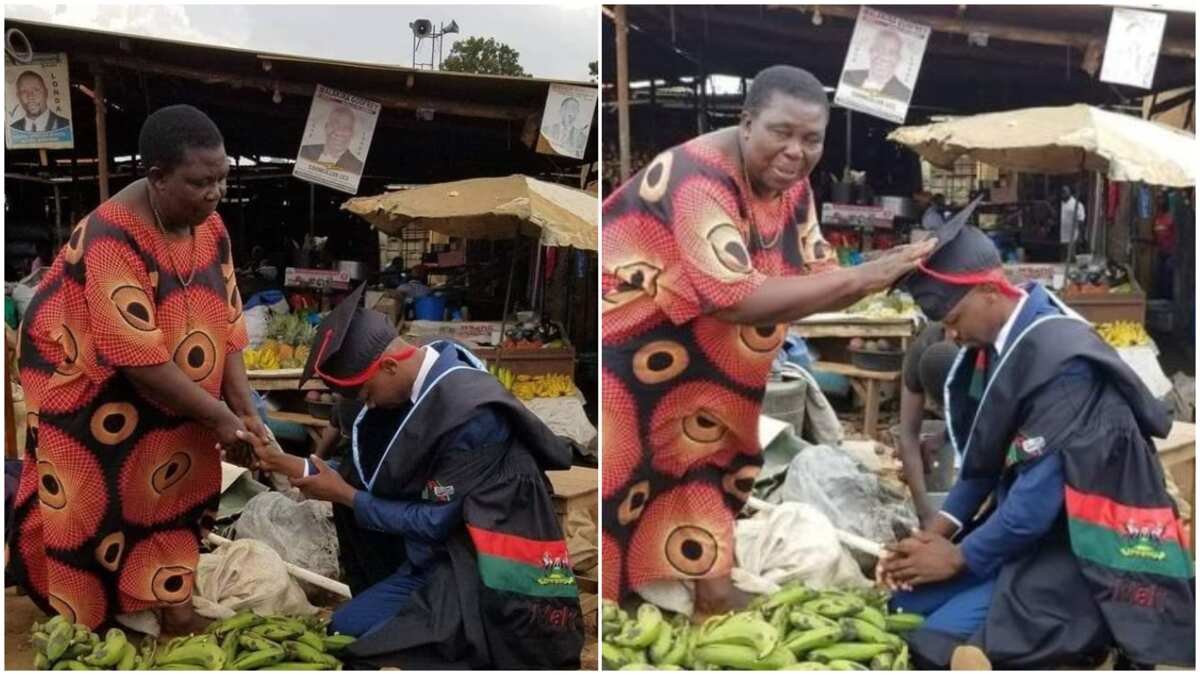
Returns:
[[[929,32],[928,25],[862,7],[834,103],[904,124]]]

